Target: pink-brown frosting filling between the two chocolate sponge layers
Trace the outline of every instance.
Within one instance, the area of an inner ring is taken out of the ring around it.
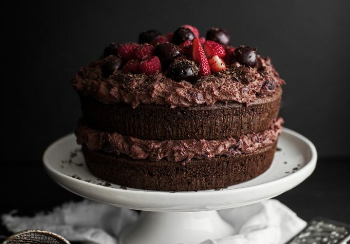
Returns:
[[[79,123],[76,136],[78,144],[85,144],[90,150],[102,150],[117,155],[125,154],[133,159],[161,160],[186,163],[192,158],[209,159],[215,156],[249,154],[272,145],[282,132],[283,119],[272,121],[269,129],[242,135],[239,138],[220,140],[142,140],[123,136],[117,132],[108,133],[89,128]]]

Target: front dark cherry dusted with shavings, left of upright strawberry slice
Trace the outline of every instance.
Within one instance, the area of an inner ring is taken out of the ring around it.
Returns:
[[[194,82],[199,68],[190,60],[175,60],[169,67],[168,77],[174,81]]]

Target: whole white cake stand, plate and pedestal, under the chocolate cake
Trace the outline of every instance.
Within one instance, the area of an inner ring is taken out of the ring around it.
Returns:
[[[245,183],[221,190],[162,192],[122,187],[97,179],[87,169],[73,134],[51,144],[43,161],[48,174],[65,189],[117,207],[142,210],[123,231],[122,244],[198,244],[229,236],[233,228],[216,210],[275,197],[309,177],[317,152],[304,136],[284,128],[271,167]]]

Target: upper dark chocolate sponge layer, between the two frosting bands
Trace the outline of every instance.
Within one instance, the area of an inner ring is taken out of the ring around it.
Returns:
[[[216,102],[186,108],[125,103],[105,104],[80,96],[83,118],[95,130],[118,132],[151,140],[222,139],[266,130],[277,118],[282,89],[273,96],[259,97],[247,107],[243,103]]]

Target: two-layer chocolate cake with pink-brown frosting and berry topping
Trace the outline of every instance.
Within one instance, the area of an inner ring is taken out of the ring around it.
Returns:
[[[106,47],[72,83],[83,116],[77,141],[89,170],[127,187],[161,191],[241,183],[271,165],[284,81],[269,58],[184,25]]]

